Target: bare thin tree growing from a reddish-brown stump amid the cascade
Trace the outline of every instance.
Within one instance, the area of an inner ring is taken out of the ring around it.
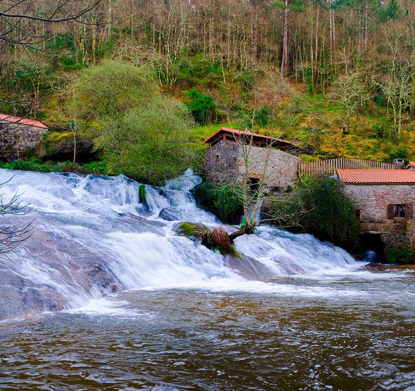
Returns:
[[[228,178],[231,183],[230,188],[232,191],[242,200],[244,217],[240,229],[228,234],[223,228],[216,228],[213,231],[206,232],[202,241],[209,247],[217,247],[224,252],[231,252],[233,248],[233,240],[239,236],[245,234],[252,234],[256,230],[256,226],[260,222],[265,221],[258,218],[261,204],[269,194],[270,181],[275,179],[278,174],[270,169],[270,156],[273,148],[277,147],[276,142],[278,139],[269,136],[270,130],[272,131],[275,126],[275,118],[277,113],[283,111],[279,107],[279,99],[287,92],[287,86],[284,79],[281,77],[279,80],[269,77],[265,79],[265,83],[272,84],[274,87],[273,94],[263,94],[264,90],[269,91],[268,88],[264,88],[264,78],[260,73],[258,77],[253,78],[253,81],[247,80],[246,83],[250,84],[249,94],[251,95],[252,111],[249,117],[240,118],[242,124],[246,124],[245,130],[241,130],[234,134],[234,141],[239,143],[239,148],[242,152],[242,164],[243,170],[238,173],[237,178]],[[254,125],[257,122],[259,113],[263,113],[264,109],[268,109],[268,120],[266,123],[267,134],[263,137],[263,145],[258,148],[255,145],[255,133],[253,132]],[[231,109],[225,109],[228,113],[229,127],[231,127]],[[234,113],[233,113],[234,115]],[[285,128],[288,128],[290,124],[285,124]],[[281,136],[286,129],[279,129],[278,133]],[[293,146],[295,148],[295,146]],[[279,171],[283,171],[288,162],[288,156],[284,159],[283,155],[280,157]],[[227,174],[224,172],[223,174]],[[253,183],[252,179],[255,179]]]

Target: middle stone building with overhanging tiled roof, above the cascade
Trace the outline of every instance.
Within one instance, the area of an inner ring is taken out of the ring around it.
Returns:
[[[223,185],[247,174],[252,187],[263,180],[270,191],[295,185],[298,155],[305,150],[289,141],[249,131],[221,128],[205,140],[206,179]],[[246,158],[249,154],[248,158]]]

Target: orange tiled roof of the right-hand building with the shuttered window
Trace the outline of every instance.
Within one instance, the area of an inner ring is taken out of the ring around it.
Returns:
[[[415,183],[413,170],[337,170],[345,183]]]

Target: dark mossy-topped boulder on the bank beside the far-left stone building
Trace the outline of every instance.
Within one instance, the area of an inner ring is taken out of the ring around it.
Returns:
[[[46,134],[36,147],[36,156],[43,160],[72,160],[74,138],[71,132],[51,132]],[[95,160],[99,149],[91,139],[76,140],[76,160],[87,162]]]

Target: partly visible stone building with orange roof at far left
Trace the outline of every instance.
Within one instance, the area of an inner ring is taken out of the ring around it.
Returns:
[[[18,159],[42,139],[47,126],[41,122],[0,114],[0,158]]]

